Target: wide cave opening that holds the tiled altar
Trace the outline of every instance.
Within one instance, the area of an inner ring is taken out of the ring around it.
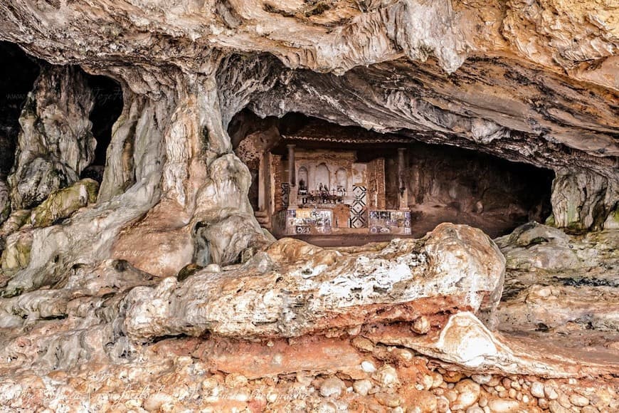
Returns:
[[[277,237],[346,246],[423,236],[448,221],[494,238],[551,213],[552,171],[483,152],[299,113],[243,110],[229,132],[252,175],[258,222]]]

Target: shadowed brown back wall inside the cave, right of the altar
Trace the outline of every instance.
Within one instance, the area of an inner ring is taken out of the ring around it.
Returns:
[[[553,178],[545,169],[468,150],[425,145],[408,150],[409,204],[455,203],[466,213],[502,212],[517,215],[519,224],[543,222],[550,214]]]

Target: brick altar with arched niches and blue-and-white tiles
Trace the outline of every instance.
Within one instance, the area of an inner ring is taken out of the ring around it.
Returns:
[[[286,235],[369,231],[369,211],[385,207],[383,158],[357,162],[356,151],[288,147],[279,179],[280,232]],[[277,184],[274,185],[277,189]],[[277,196],[274,197],[277,202]]]

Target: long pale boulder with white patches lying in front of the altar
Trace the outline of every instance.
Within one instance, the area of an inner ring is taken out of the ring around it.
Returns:
[[[295,250],[311,258],[292,261]],[[166,278],[154,291],[135,288],[125,328],[134,340],[207,331],[297,337],[455,309],[490,313],[503,265],[492,241],[466,226],[442,224],[422,244],[396,240],[344,256],[282,239],[238,271],[206,269],[182,283]]]

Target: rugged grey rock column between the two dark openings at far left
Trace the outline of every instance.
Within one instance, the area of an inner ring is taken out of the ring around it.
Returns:
[[[95,138],[88,115],[92,94],[75,68],[43,68],[21,113],[11,204],[28,209],[77,181],[90,164]]]

